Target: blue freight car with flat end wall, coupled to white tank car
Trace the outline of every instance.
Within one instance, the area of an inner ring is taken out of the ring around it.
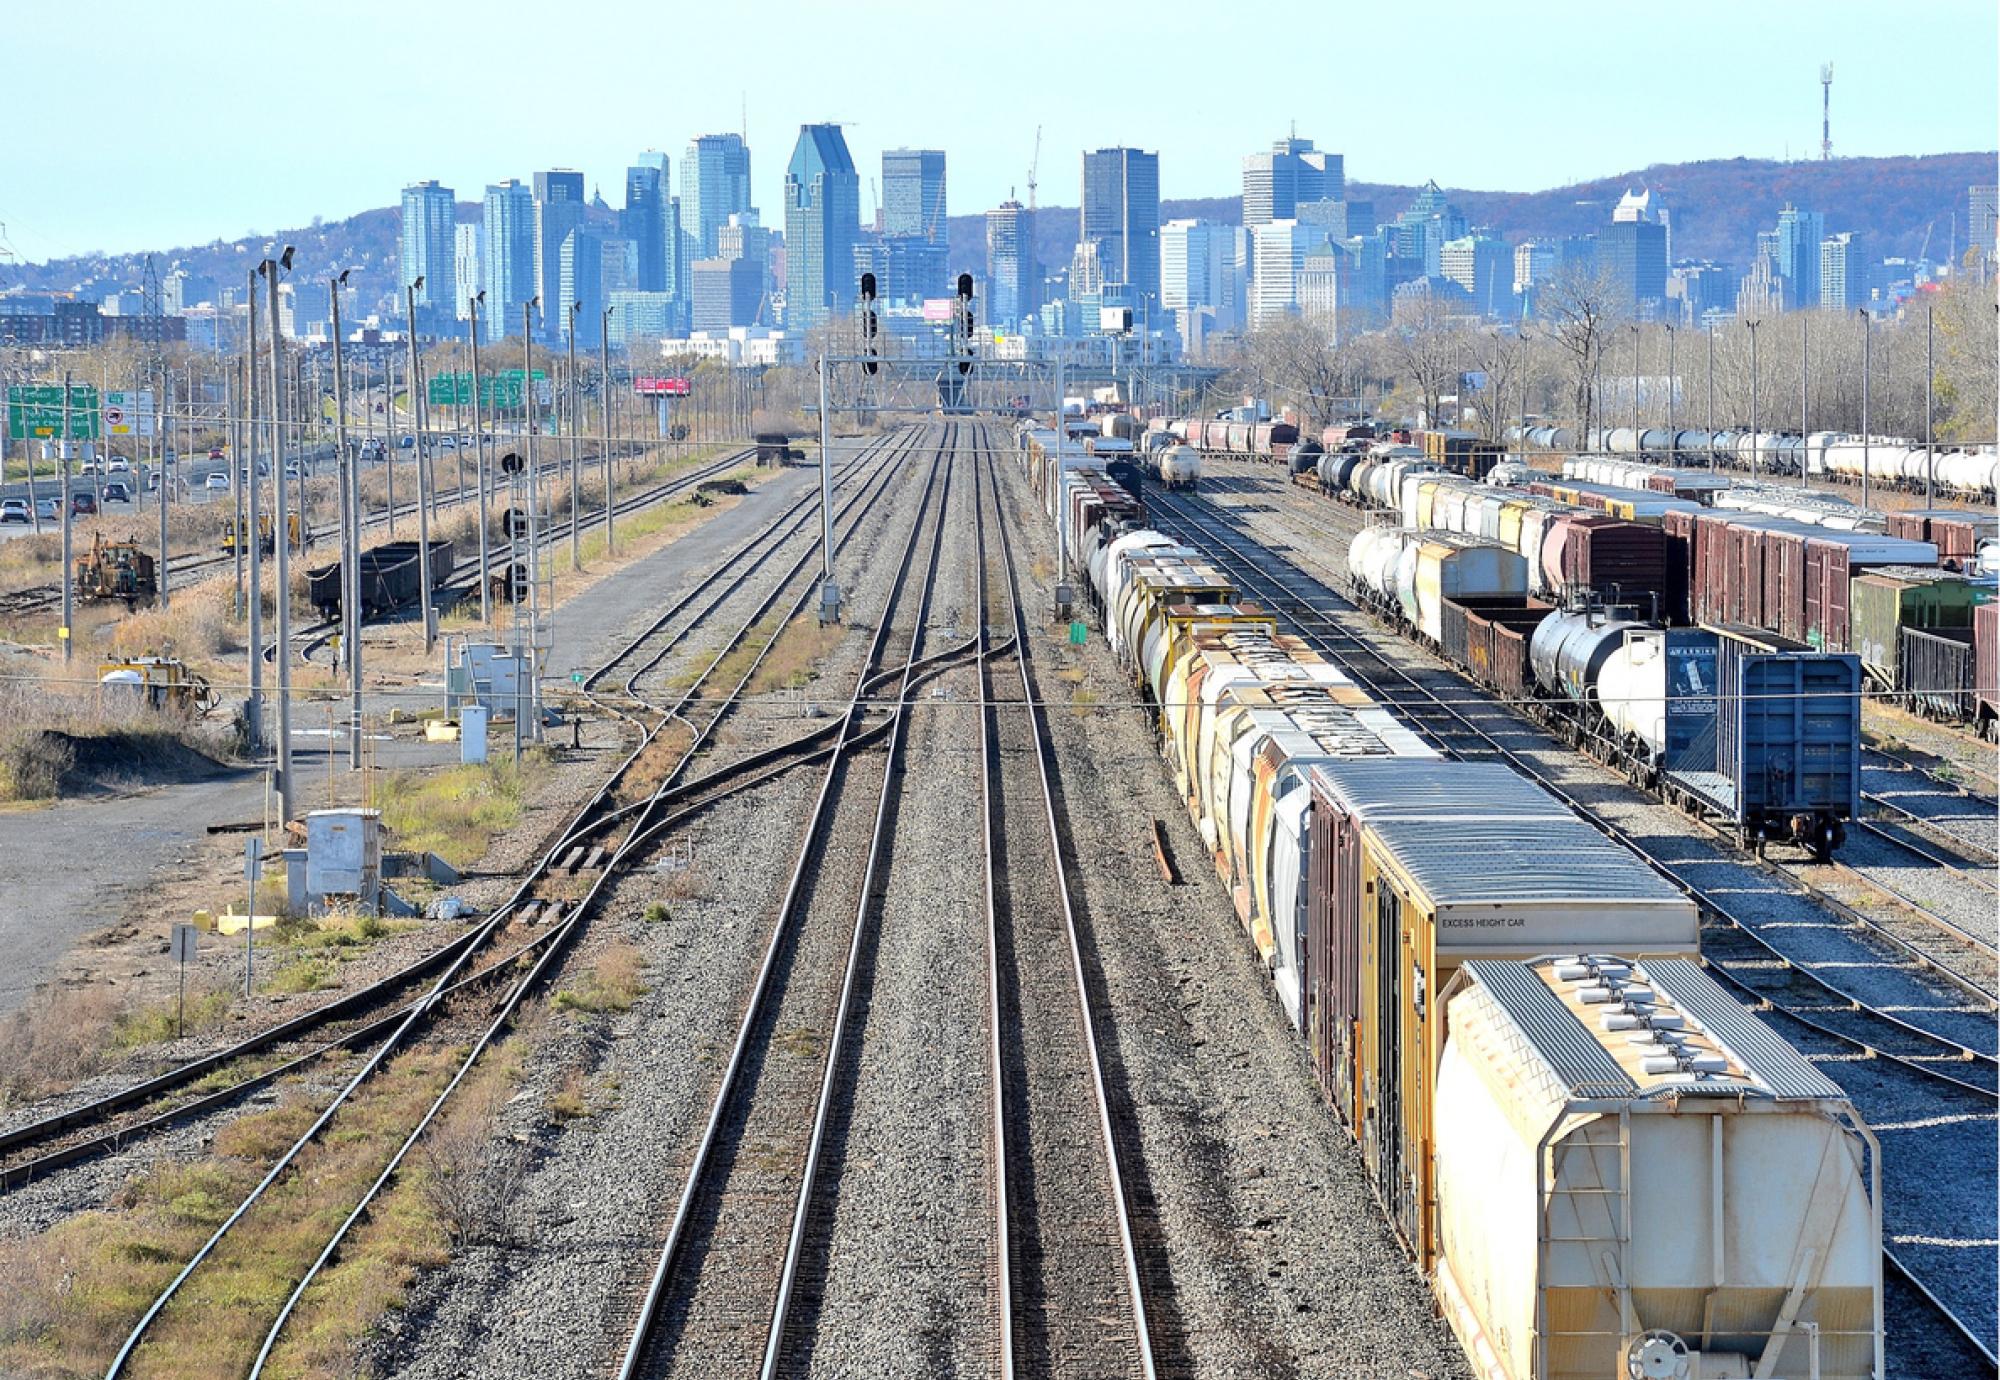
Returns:
[[[1732,824],[1744,846],[1788,840],[1830,858],[1860,804],[1860,658],[1712,632],[1714,754],[1694,744],[1670,764],[1670,784]]]

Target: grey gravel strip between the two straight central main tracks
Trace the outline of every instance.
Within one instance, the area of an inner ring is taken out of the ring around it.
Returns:
[[[978,618],[972,462],[960,458],[928,648]],[[978,906],[978,672],[928,682],[910,710],[886,884],[836,1084],[794,1316],[794,1374],[954,1376],[992,1364],[986,1164],[986,946]],[[850,1038],[850,1048],[856,1044]]]

